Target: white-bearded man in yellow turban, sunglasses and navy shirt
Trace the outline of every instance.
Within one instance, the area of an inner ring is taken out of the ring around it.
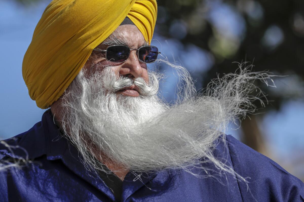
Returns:
[[[303,183],[224,130],[250,112],[246,69],[176,104],[157,96],[155,0],[54,0],[23,61],[29,95],[50,108],[2,141],[0,201],[303,201]]]

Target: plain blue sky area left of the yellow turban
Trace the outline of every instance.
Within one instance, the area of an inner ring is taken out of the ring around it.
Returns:
[[[22,78],[22,59],[47,3],[24,8],[13,1],[0,1],[0,137],[27,131],[41,120],[45,110],[36,107]]]

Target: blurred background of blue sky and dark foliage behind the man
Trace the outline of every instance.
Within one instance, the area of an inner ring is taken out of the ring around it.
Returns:
[[[0,1],[0,138],[28,130],[45,110],[29,98],[22,59],[34,28],[50,0]],[[171,62],[185,66],[198,90],[212,78],[234,72],[233,62],[275,75],[276,88],[257,85],[267,95],[263,108],[226,131],[278,162],[304,181],[304,1],[158,1],[153,45]],[[164,64],[161,91],[174,102],[176,76]],[[236,129],[236,130],[233,130]]]

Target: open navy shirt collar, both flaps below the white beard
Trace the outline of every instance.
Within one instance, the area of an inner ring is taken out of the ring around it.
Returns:
[[[102,191],[112,200],[115,200],[113,193],[100,179],[100,177],[95,172],[91,172],[85,169],[85,166],[82,164],[83,161],[81,155],[79,155],[79,152],[76,147],[74,147],[67,140],[67,138],[62,135],[59,127],[54,122],[54,116],[51,113],[51,110],[47,110],[43,114],[41,125],[43,128],[43,134],[39,135],[39,137],[36,136],[36,142],[45,142],[41,145],[45,145],[44,152],[47,155],[47,159],[61,159],[61,161],[71,171],[73,171],[75,174],[77,174],[84,180],[88,181],[90,184],[95,186],[98,190]],[[136,190],[138,190],[140,187],[143,187],[154,177],[155,175],[129,172],[123,181],[123,198],[128,198]]]

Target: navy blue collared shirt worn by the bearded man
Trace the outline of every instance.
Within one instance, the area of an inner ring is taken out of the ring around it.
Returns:
[[[228,149],[219,138],[214,156],[248,177],[248,187],[224,173],[198,178],[183,170],[171,170],[142,174],[139,179],[129,172],[122,183],[120,201],[304,201],[301,180],[231,135],[222,138],[226,138]],[[100,177],[85,170],[77,149],[62,137],[50,110],[29,131],[5,142],[11,150],[0,144],[2,168],[21,157],[33,163],[0,170],[1,202],[119,201]],[[195,168],[192,171],[200,172]]]

